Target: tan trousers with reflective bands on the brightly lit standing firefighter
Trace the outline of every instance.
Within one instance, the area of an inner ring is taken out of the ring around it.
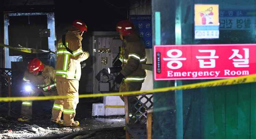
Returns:
[[[71,126],[74,122],[76,105],[79,102],[79,80],[57,78],[57,92],[59,96],[68,96],[67,99],[56,99],[53,104],[52,121],[58,121],[63,112],[65,126]]]

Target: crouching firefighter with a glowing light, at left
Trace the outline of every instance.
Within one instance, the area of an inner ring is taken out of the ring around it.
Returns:
[[[25,96],[57,95],[55,69],[43,64],[39,59],[32,59],[24,73],[23,85]],[[32,119],[32,101],[23,101],[18,121],[29,121]],[[60,124],[63,121],[58,121]]]

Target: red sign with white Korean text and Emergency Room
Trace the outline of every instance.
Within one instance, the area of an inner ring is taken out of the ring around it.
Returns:
[[[155,80],[256,74],[256,44],[155,45]]]

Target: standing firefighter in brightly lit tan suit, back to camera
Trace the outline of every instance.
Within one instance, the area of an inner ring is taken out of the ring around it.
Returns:
[[[74,121],[76,105],[79,102],[79,80],[81,77],[81,61],[89,57],[82,49],[82,35],[87,26],[81,20],[75,20],[66,35],[58,42],[56,79],[58,95],[68,96],[67,99],[55,100],[52,110],[52,121],[59,120],[63,112],[65,126],[78,126]],[[61,108],[63,107],[63,111]]]

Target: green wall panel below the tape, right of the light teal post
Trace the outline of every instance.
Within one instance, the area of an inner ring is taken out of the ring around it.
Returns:
[[[248,83],[183,91],[184,138],[255,139],[255,86]]]

